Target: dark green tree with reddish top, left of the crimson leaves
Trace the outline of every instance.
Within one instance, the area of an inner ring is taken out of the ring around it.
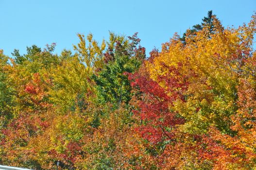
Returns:
[[[92,75],[100,102],[120,104],[130,101],[132,88],[125,73],[136,71],[145,59],[145,48],[139,42],[137,33],[128,38],[110,33],[104,65]]]

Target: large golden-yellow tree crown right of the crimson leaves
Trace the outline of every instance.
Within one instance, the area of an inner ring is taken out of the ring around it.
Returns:
[[[186,102],[175,101],[170,110],[186,119],[180,128],[192,134],[206,133],[213,124],[225,126],[223,120],[229,119],[235,108],[238,75],[230,70],[230,60],[237,53],[239,35],[237,31],[224,30],[216,19],[215,30],[216,34],[210,37],[206,28],[194,36],[187,36],[186,46],[174,37],[163,45],[153,62],[145,64],[150,78],[165,89],[168,86],[166,82],[159,81],[160,77],[180,78],[169,73],[167,67],[182,66],[178,71],[187,76],[189,82],[183,94]]]

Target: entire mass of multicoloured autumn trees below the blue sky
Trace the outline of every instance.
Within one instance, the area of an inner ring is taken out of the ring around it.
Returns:
[[[137,33],[78,34],[75,53],[0,51],[0,164],[256,169],[256,16],[237,29],[203,21],[149,57]]]

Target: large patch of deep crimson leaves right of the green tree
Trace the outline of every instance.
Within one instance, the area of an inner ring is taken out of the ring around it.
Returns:
[[[169,73],[182,76],[174,67],[169,67]],[[143,121],[137,127],[137,132],[153,143],[162,140],[174,141],[175,126],[184,123],[184,119],[179,118],[177,112],[169,110],[169,105],[178,98],[183,99],[182,91],[187,89],[188,82],[186,78],[180,81],[179,78],[170,76],[170,74],[158,77],[159,82],[165,82],[167,89],[150,79],[145,72],[129,75],[129,80],[133,80],[131,85],[134,90],[142,93],[137,102],[139,114],[134,112]]]

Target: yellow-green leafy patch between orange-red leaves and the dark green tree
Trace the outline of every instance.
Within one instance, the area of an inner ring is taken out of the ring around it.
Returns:
[[[54,88],[49,89],[50,100],[61,106],[61,109],[70,108],[78,94],[93,90],[88,83],[88,76],[89,70],[80,63],[77,56],[64,60],[62,65],[52,71]]]

